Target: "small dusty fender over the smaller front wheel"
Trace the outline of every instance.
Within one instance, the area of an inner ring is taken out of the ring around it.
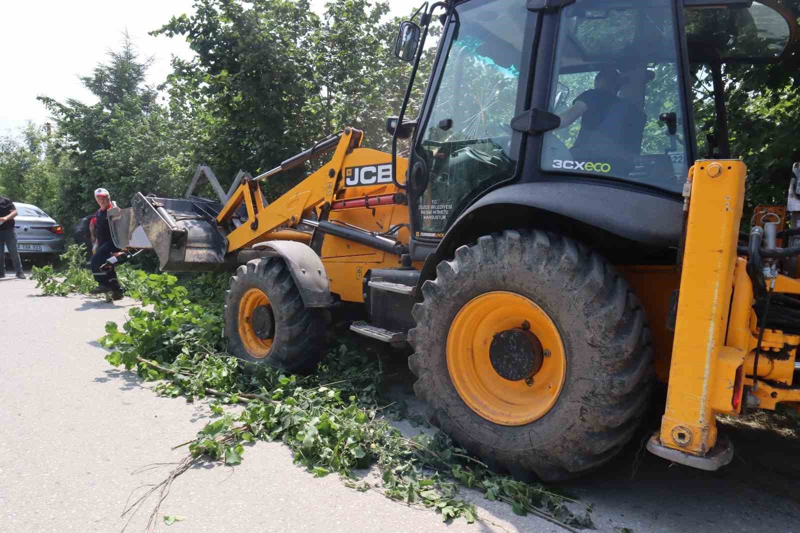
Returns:
[[[258,257],[280,257],[286,262],[306,307],[330,307],[333,303],[325,266],[310,246],[294,241],[268,241],[253,248]]]

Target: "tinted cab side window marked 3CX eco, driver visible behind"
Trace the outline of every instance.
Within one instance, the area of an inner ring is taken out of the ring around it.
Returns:
[[[577,0],[562,10],[542,170],[682,190],[688,172],[670,0]],[[671,127],[670,127],[671,125]]]

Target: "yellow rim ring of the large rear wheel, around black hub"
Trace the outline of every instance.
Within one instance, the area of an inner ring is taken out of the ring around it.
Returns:
[[[536,335],[543,357],[530,379],[510,381],[494,369],[490,346],[495,335],[515,328]],[[542,418],[564,385],[566,357],[558,328],[541,307],[513,292],[489,292],[466,303],[450,325],[446,351],[458,395],[476,414],[502,426]]]

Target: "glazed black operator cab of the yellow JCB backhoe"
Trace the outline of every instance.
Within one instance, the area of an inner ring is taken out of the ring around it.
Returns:
[[[413,123],[417,242],[438,241],[506,183],[605,182],[677,201],[695,158],[730,157],[722,64],[777,61],[796,29],[767,0],[467,0],[447,8]],[[713,86],[705,99],[704,83]],[[709,94],[713,131],[696,132],[694,114]]]

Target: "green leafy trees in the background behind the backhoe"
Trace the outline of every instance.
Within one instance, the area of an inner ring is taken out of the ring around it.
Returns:
[[[783,5],[800,17],[800,0]],[[162,85],[148,82],[152,58],[125,36],[82,76],[97,103],[40,97],[52,122],[0,137],[0,194],[40,206],[69,230],[97,209],[98,186],[120,206],[139,190],[182,194],[202,163],[227,186],[238,170],[273,168],[346,125],[365,130],[367,146],[386,150],[384,120],[397,113],[410,71],[392,54],[398,19],[388,10],[386,2],[330,0],[320,17],[308,0],[198,0],[194,13],[154,29],[186,39],[194,51],[190,61],[174,59]],[[415,103],[433,53],[426,52]],[[800,161],[797,69],[798,58],[726,68],[731,147],[750,167],[749,206],[785,202],[792,163]],[[713,106],[702,82],[695,89],[702,139],[714,129]],[[270,182],[268,199],[298,178]]]

